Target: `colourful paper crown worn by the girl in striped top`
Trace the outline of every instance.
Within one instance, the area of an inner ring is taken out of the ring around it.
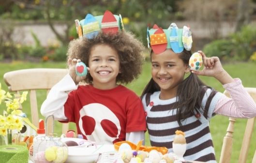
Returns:
[[[184,26],[178,29],[175,23],[172,23],[166,30],[159,28],[156,24],[152,29],[147,30],[148,46],[155,54],[160,54],[166,49],[172,49],[175,53],[181,53],[183,49],[191,50],[192,36],[190,28]]]

